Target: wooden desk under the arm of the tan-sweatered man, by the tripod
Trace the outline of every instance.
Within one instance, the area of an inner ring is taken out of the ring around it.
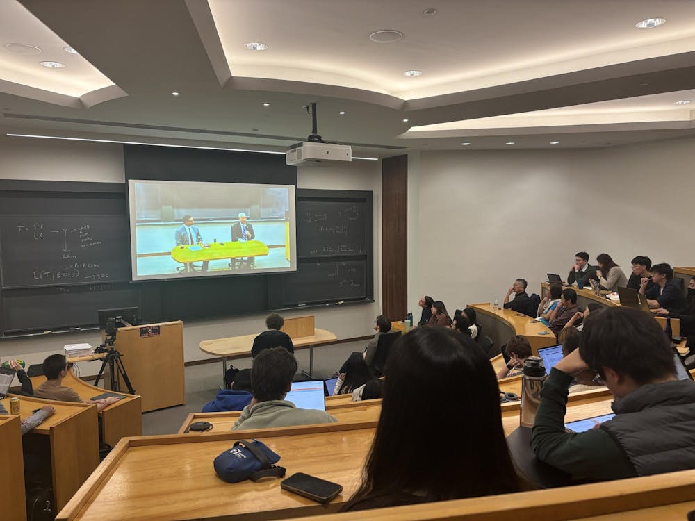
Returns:
[[[44,381],[46,381],[46,377],[43,376],[31,378],[34,388],[40,386]],[[106,392],[100,387],[92,386],[79,379],[72,371],[67,372],[63,379],[63,385],[73,389],[85,402]],[[113,394],[121,395],[123,398],[104,408],[99,416],[101,416],[104,443],[115,447],[116,443],[125,436],[142,436],[142,400],[138,395],[126,395],[122,392],[114,392]]]

